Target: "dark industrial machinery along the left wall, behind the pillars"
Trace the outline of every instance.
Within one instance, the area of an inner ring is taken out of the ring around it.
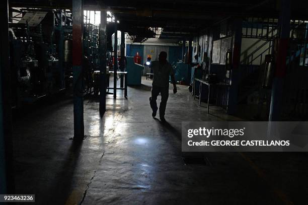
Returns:
[[[63,9],[16,9],[10,17],[12,102],[32,103],[72,87],[72,12]],[[84,24],[82,95],[93,93],[99,70],[99,26]],[[90,17],[89,17],[90,18]]]

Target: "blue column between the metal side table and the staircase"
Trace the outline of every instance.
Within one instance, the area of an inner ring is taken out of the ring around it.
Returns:
[[[230,84],[227,113],[235,114],[238,106],[238,90],[240,75],[240,60],[242,47],[242,20],[235,19],[233,22],[233,48],[232,48],[232,70],[230,71]],[[224,53],[225,54],[225,53]]]

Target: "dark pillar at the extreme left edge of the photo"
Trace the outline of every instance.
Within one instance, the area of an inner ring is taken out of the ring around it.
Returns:
[[[0,194],[14,193],[11,71],[9,51],[8,1],[1,2],[0,18]]]

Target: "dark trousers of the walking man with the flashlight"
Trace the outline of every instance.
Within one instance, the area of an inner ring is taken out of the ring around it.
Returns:
[[[157,111],[157,96],[161,93],[162,100],[160,104],[160,118],[164,118],[165,116],[165,110],[167,105],[167,100],[169,97],[169,87],[158,87],[158,86],[152,86],[151,90],[151,97],[150,97],[150,106],[153,111]]]

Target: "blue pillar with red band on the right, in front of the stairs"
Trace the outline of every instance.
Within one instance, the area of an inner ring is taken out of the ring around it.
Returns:
[[[278,40],[278,50],[277,53],[275,53],[276,70],[272,85],[269,121],[280,120],[283,83],[286,73],[287,47],[290,38],[290,0],[280,1],[280,16],[278,20],[278,26],[278,34],[280,37]]]

